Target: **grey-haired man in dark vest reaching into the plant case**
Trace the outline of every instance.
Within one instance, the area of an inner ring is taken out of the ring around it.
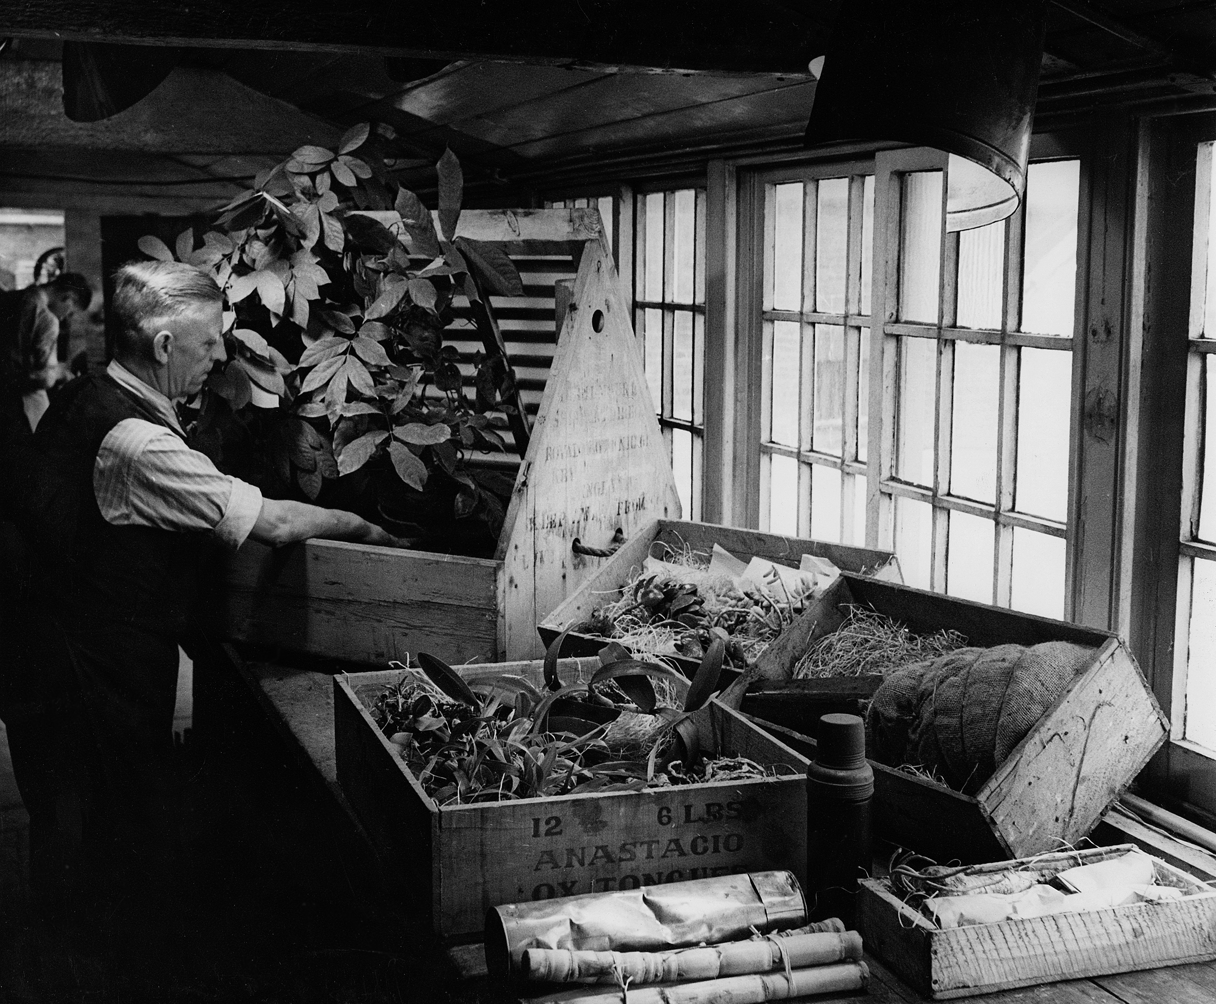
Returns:
[[[30,609],[12,625],[23,658],[10,662],[7,687],[0,672],[0,718],[32,817],[32,878],[52,895],[66,892],[64,862],[79,861],[79,845],[63,851],[69,831],[101,848],[102,864],[85,873],[156,881],[157,857],[171,856],[178,645],[208,538],[399,543],[353,513],[263,498],[186,445],[174,402],[225,359],[210,276],[126,265],[111,310],[114,360],[56,397],[12,500],[39,562]]]

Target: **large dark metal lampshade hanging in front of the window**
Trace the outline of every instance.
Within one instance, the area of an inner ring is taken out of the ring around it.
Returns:
[[[806,146],[900,141],[950,154],[946,230],[1003,220],[1026,187],[1045,0],[845,0]]]

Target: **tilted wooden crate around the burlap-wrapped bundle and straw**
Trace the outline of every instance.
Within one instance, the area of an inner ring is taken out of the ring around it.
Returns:
[[[850,604],[871,607],[917,633],[958,631],[980,648],[1074,642],[1093,649],[1085,671],[974,797],[871,761],[874,825],[886,840],[942,862],[1071,846],[1165,741],[1169,722],[1116,634],[848,572],[761,655],[750,679],[732,684],[724,701],[739,706],[758,679],[788,681],[807,643],[834,631]],[[782,724],[790,727],[788,720]]]

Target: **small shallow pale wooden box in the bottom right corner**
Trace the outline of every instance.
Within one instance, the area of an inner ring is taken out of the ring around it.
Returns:
[[[1069,857],[1073,863],[1093,863],[1113,850]],[[935,1000],[1216,959],[1216,891],[1165,862],[1158,861],[1156,869],[1167,884],[1192,893],[1171,903],[948,930],[903,903],[884,879],[863,879],[857,903],[861,934],[867,952]]]

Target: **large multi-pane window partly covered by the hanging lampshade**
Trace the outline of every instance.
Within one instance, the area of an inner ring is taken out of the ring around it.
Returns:
[[[946,233],[945,164],[889,157],[869,540],[910,585],[1062,617],[1079,162],[1031,164],[1014,216]]]

